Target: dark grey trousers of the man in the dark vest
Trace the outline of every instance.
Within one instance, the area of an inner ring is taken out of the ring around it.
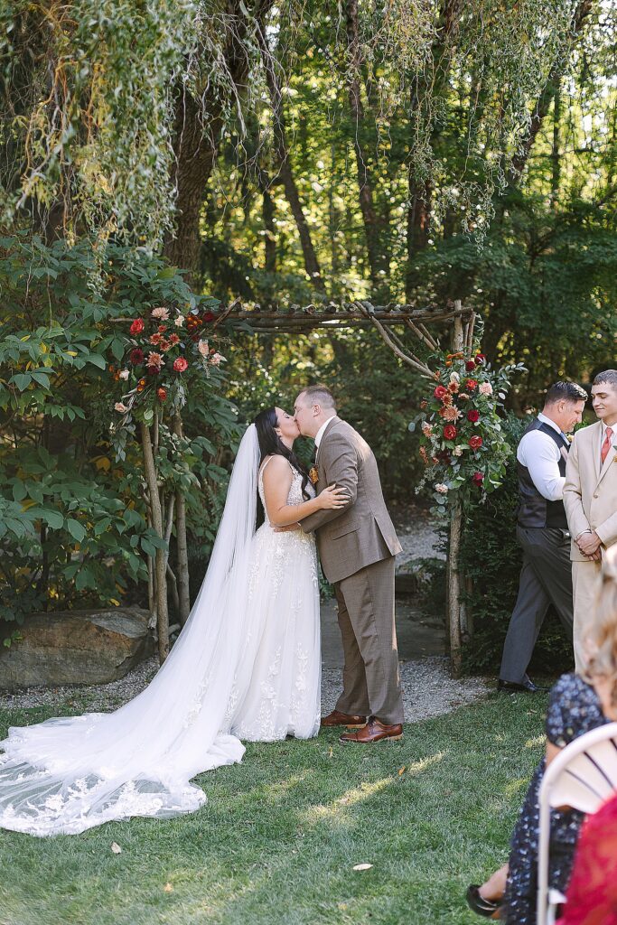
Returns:
[[[566,530],[517,526],[516,539],[523,549],[523,568],[503,646],[500,679],[521,684],[550,604],[572,638],[572,569]]]

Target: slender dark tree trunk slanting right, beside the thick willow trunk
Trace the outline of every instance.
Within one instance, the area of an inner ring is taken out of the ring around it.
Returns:
[[[311,230],[308,226],[300,193],[293,176],[290,164],[290,152],[287,144],[287,135],[285,128],[285,114],[283,111],[283,94],[280,88],[280,81],[276,69],[276,62],[272,56],[267,43],[265,30],[260,26],[257,31],[262,61],[265,69],[265,82],[267,83],[270,102],[272,105],[272,117],[274,125],[274,138],[276,154],[278,160],[278,176],[282,180],[283,189],[288,203],[290,203],[291,215],[298,228],[298,236],[302,246],[302,256],[304,258],[304,268],[311,285],[320,292],[326,291],[326,285],[321,276],[319,262],[311,238]]]

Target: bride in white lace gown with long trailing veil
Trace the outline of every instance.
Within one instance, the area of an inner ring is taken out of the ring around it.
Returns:
[[[191,812],[206,800],[191,778],[240,761],[241,738],[317,734],[315,539],[294,525],[346,501],[334,486],[315,497],[293,453],[299,436],[280,408],[248,427],[204,583],[151,684],[113,713],[8,730],[0,827],[73,834],[108,820]],[[265,521],[255,532],[258,496]]]

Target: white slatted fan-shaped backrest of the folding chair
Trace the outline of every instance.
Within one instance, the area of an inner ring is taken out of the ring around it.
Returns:
[[[617,791],[617,722],[574,739],[545,771],[540,802],[595,812]]]

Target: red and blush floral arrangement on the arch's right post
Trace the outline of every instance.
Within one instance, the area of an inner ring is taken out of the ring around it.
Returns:
[[[449,499],[484,500],[500,487],[512,449],[503,436],[499,409],[512,373],[523,364],[493,370],[475,350],[438,354],[436,385],[420,402],[410,424],[419,427],[420,456],[426,469],[416,488],[432,487],[437,511],[445,514]]]

